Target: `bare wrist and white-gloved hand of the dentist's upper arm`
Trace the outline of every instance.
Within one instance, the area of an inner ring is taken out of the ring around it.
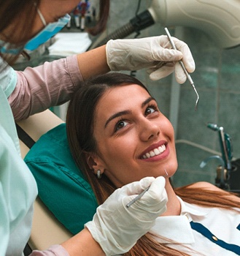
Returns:
[[[171,42],[166,36],[109,40],[107,45],[77,56],[82,78],[85,80],[109,70],[147,68],[152,80],[164,78],[175,72],[178,83],[184,83],[187,78],[178,61],[183,61],[188,72],[194,71],[195,62],[187,44],[175,37],[172,39],[177,50],[172,49]],[[93,65],[92,69],[88,63]]]

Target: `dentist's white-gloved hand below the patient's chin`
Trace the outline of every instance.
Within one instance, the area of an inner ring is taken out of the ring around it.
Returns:
[[[150,189],[127,208],[126,205],[148,186]],[[163,177],[143,178],[115,190],[104,204],[98,206],[93,220],[85,227],[106,255],[128,252],[155,224],[155,219],[166,211],[168,197],[164,186]]]

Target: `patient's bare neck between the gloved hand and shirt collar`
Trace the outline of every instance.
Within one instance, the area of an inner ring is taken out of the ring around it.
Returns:
[[[177,195],[174,192],[174,189],[171,187],[169,178],[166,178],[166,192],[168,195],[168,203],[166,204],[167,210],[161,216],[176,216],[181,213],[181,204],[177,198]]]

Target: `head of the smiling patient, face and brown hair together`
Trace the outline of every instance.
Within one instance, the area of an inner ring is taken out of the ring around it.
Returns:
[[[128,75],[112,73],[86,82],[70,102],[67,124],[79,165],[90,179],[98,170],[104,173],[106,187],[109,181],[116,188],[144,176],[163,176],[164,169],[169,176],[177,170],[171,123],[146,87]],[[158,148],[166,150],[144,159]]]

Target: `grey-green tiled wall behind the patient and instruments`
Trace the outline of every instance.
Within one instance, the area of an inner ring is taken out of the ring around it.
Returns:
[[[137,0],[111,0],[111,12],[107,33],[111,33],[134,17]],[[150,6],[150,1],[142,1],[140,12]],[[174,28],[171,29],[174,35]],[[196,94],[189,83],[180,89],[179,114],[177,121],[176,140],[187,140],[205,146],[214,151],[220,151],[217,132],[206,128],[206,123],[212,122],[224,127],[225,132],[233,140],[233,157],[240,157],[240,47],[222,50],[215,46],[209,35],[198,29],[184,28],[182,38],[189,45],[196,61],[196,71],[192,78],[198,90],[200,101],[198,110],[194,110]],[[140,37],[164,34],[163,26],[159,23],[142,31]],[[135,35],[132,34],[131,38]],[[172,76],[159,81],[151,81],[146,72],[136,72],[136,77],[148,86],[158,99],[160,110],[169,117]],[[176,109],[177,111],[177,109]],[[193,181],[214,182],[215,167],[219,162],[209,163],[204,170],[199,164],[211,152],[202,151],[177,144],[179,158],[177,185]],[[187,178],[186,178],[187,176]]]

